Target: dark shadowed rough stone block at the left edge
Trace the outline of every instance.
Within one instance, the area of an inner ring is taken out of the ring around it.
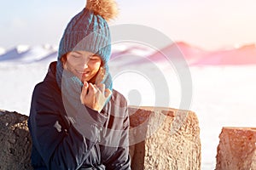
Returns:
[[[32,169],[32,141],[26,121],[27,116],[0,111],[0,169]]]

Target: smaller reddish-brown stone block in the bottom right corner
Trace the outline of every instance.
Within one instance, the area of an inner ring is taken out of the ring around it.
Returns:
[[[223,127],[216,170],[256,170],[256,128]]]

